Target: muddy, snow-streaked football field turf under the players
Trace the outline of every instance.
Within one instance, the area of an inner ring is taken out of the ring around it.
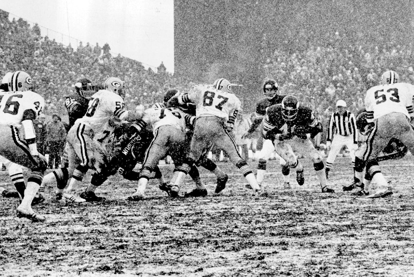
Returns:
[[[330,171],[335,194],[321,193],[302,161],[305,185],[291,174],[290,190],[270,161],[269,195],[258,199],[230,163],[219,163],[230,178],[218,195],[201,170],[209,195],[200,198],[170,199],[152,180],[148,199],[127,201],[134,184],[118,175],[97,189],[101,203],[54,201],[46,188],[34,207],[44,223],[16,218],[17,199],[0,197],[0,276],[413,276],[412,156],[381,163],[395,193],[370,200],[342,192],[349,158]],[[4,171],[0,180],[12,188]],[[181,194],[192,188],[187,177]]]

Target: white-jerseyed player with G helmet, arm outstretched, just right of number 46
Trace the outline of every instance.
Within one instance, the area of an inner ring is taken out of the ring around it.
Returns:
[[[111,77],[105,81],[105,90],[99,90],[89,99],[86,114],[75,121],[67,134],[68,145],[68,175],[71,176],[66,193],[66,199],[78,199],[72,191],[82,182],[89,168],[101,172],[107,165],[106,149],[96,139],[96,135],[103,133],[109,120],[113,117],[122,121],[136,121],[142,117],[140,111],[124,109],[124,83],[119,78]],[[94,187],[88,192],[94,194]],[[91,193],[89,193],[91,195]],[[80,198],[82,199],[82,198]],[[82,202],[81,200],[75,202]],[[85,200],[85,199],[84,199]]]

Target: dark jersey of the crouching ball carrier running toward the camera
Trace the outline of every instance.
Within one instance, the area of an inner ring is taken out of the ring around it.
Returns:
[[[286,132],[292,136],[306,137],[306,134],[311,133],[312,128],[317,124],[318,121],[308,107],[299,106],[296,118],[289,121],[282,116],[282,104],[277,104],[267,108],[263,132],[264,134],[270,131],[274,134]]]

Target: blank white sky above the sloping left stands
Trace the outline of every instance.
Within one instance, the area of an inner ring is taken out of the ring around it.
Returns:
[[[173,72],[173,4],[173,0],[0,0],[0,9],[14,14],[10,18],[37,22],[42,36],[65,45],[70,35],[74,49],[76,39],[83,45],[109,43],[113,55],[135,59],[145,68],[162,61]]]

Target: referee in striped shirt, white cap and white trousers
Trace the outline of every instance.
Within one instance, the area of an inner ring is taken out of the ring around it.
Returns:
[[[347,103],[344,100],[338,100],[336,107],[337,110],[331,114],[329,119],[328,133],[326,136],[326,147],[329,151],[325,167],[326,178],[328,178],[329,170],[344,145],[349,149],[352,167],[355,165],[355,150],[358,148],[358,129],[356,129],[354,114],[346,109]],[[355,182],[359,182],[359,180],[355,177],[354,172]]]

